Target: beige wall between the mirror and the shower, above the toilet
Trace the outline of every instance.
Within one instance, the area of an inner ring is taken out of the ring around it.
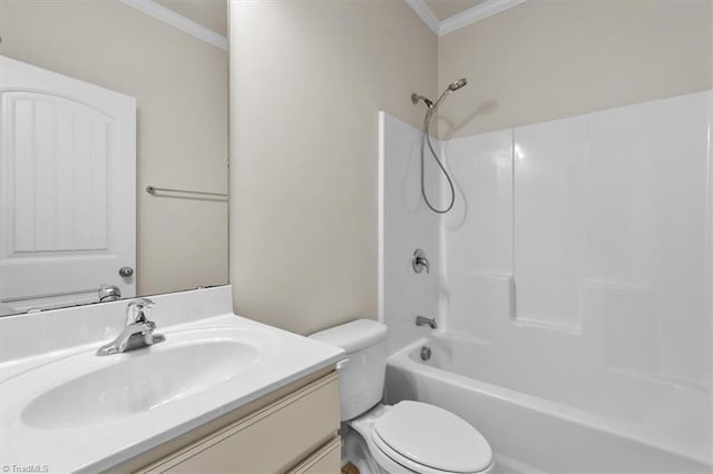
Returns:
[[[303,334],[375,317],[378,111],[420,124],[437,38],[402,0],[231,6],[235,309]]]

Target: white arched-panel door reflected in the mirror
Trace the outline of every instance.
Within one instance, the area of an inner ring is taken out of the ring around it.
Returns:
[[[0,56],[0,313],[135,296],[136,100]]]

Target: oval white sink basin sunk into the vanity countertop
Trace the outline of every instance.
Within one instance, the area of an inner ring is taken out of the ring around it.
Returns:
[[[20,419],[33,427],[65,428],[146,412],[228,381],[260,356],[256,347],[241,342],[162,344],[126,353],[113,365],[45,392]]]

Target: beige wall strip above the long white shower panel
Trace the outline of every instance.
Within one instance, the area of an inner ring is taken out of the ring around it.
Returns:
[[[528,0],[440,37],[442,136],[712,87],[711,0]]]

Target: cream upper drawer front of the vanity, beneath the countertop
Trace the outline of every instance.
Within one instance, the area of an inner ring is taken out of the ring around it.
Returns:
[[[144,472],[281,472],[332,438],[339,423],[339,385],[331,373]]]

